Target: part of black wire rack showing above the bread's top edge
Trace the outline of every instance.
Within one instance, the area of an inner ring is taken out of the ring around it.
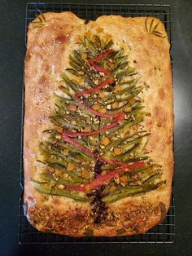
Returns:
[[[122,15],[129,17],[154,16],[164,22],[169,41],[172,43],[172,12],[169,5],[163,4],[81,4],[29,2],[26,8],[26,32],[28,24],[39,12],[72,11],[81,19],[96,20],[100,15]]]

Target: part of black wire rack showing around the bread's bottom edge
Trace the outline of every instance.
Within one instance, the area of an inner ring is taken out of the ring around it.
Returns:
[[[38,232],[37,229],[28,223],[28,220],[24,215],[22,198],[20,199],[19,218],[20,244],[172,243],[175,236],[175,205],[173,197],[164,223],[152,227],[151,230],[145,234],[135,236],[76,238]]]

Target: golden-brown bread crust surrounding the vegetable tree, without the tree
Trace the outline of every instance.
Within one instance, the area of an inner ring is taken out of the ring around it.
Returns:
[[[24,203],[27,218],[38,230],[68,236],[125,236],[146,232],[164,218],[172,192],[172,72],[164,25],[160,23],[158,27],[165,37],[160,38],[146,31],[145,17],[104,15],[85,25],[84,20],[71,12],[44,15],[44,27],[33,29],[33,24],[29,25],[25,60]],[[159,22],[154,19],[155,23]],[[79,35],[89,30],[111,35],[116,45],[123,42],[131,66],[140,73],[140,82],[149,86],[142,93],[146,109],[151,113],[143,123],[151,130],[147,150],[164,166],[163,178],[167,181],[163,188],[112,203],[109,218],[98,227],[90,217],[88,203],[43,195],[31,182],[35,172],[43,168],[35,160],[38,143],[45,136],[42,131],[51,127],[52,95],[59,86],[59,74],[68,66],[68,55],[76,48]]]

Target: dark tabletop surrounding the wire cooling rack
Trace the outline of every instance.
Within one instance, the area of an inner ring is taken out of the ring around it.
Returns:
[[[49,1],[44,1],[49,2]],[[57,1],[52,1],[57,2]],[[59,0],[59,2],[63,2]],[[70,1],[66,1],[70,2]],[[80,2],[80,1],[73,1]],[[89,1],[89,3],[162,3],[159,1]],[[173,244],[19,245],[21,91],[24,69],[26,2],[0,2],[0,255],[192,255],[192,1],[172,5],[175,109],[176,236]]]

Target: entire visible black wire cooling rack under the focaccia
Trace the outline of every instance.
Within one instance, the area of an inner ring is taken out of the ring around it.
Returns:
[[[100,15],[123,15],[130,17],[155,16],[162,20],[168,33],[169,41],[172,43],[172,13],[168,5],[152,4],[77,4],[77,3],[46,3],[30,2],[26,8],[26,33],[28,24],[35,19],[39,13],[54,11],[72,11],[81,19],[86,21],[95,20]],[[24,97],[23,97],[24,99]],[[23,101],[24,104],[24,101]],[[23,108],[24,114],[24,108]],[[23,134],[23,131],[22,131]],[[21,142],[23,148],[23,141]],[[72,244],[72,243],[172,243],[175,236],[175,205],[172,197],[170,209],[161,223],[145,234],[136,236],[120,237],[82,237],[74,238],[69,236],[55,235],[51,233],[38,232],[37,229],[28,223],[24,216],[23,190],[24,190],[24,170],[21,152],[20,186],[22,195],[20,197],[19,209],[19,242],[20,244]]]

